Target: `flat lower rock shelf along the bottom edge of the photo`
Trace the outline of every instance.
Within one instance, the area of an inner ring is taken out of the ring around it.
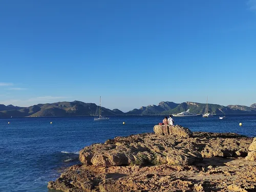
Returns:
[[[196,166],[70,167],[48,188],[66,192],[255,191],[256,162],[209,158]]]

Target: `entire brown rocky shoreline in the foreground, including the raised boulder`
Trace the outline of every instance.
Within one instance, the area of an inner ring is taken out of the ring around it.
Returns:
[[[256,191],[256,138],[155,125],[80,151],[48,188],[62,191]]]

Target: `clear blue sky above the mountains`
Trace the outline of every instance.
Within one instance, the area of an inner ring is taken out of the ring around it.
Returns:
[[[1,1],[0,103],[256,102],[256,0]]]

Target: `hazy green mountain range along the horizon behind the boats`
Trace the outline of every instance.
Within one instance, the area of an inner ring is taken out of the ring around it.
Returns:
[[[13,105],[0,104],[0,117],[50,117],[50,116],[95,116],[99,106],[95,103],[85,103],[82,101],[56,102],[46,104],[36,104],[29,107],[20,107]],[[120,115],[169,115],[177,114],[186,110],[191,113],[203,114],[206,104],[197,102],[175,103],[162,101],[158,105],[141,106],[140,109],[134,109],[129,112],[122,112],[118,109],[106,109],[101,106],[103,116],[120,116]],[[208,110],[217,115],[228,114],[256,114],[256,103],[250,106],[244,105],[219,105],[208,104]]]

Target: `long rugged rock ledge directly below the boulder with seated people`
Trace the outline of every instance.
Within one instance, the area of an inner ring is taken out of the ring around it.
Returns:
[[[182,140],[177,140],[182,142]],[[190,165],[202,160],[196,146],[177,145],[174,137],[139,134],[116,137],[104,144],[94,144],[80,151],[83,164],[96,166],[175,164]]]

